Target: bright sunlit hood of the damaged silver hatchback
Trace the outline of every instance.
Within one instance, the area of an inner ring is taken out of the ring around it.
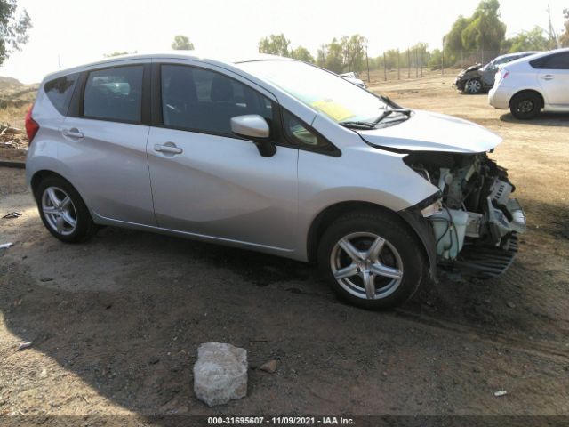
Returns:
[[[493,149],[501,137],[480,125],[445,116],[414,110],[405,122],[357,133],[369,144],[404,151],[446,151],[481,153]]]

